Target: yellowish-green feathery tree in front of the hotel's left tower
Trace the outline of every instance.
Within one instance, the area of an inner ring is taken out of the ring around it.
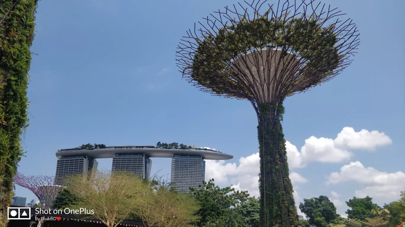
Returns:
[[[148,188],[147,183],[131,172],[98,171],[91,178],[76,175],[68,177],[65,182],[68,189],[80,198],[72,208],[94,210],[86,215],[108,227],[118,226],[134,211],[134,206],[144,203]]]

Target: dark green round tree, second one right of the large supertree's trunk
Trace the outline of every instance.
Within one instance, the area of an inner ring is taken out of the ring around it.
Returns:
[[[365,198],[356,198],[346,201],[346,204],[351,209],[348,209],[345,213],[349,219],[358,219],[360,221],[365,221],[366,218],[373,217],[371,210],[374,208],[379,208],[377,204],[373,204],[373,198],[368,195]]]

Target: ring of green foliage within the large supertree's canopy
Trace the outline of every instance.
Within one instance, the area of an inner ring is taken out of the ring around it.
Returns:
[[[339,34],[334,33],[334,26],[322,27],[322,19],[315,17],[294,17],[283,21],[288,13],[277,18],[269,17],[271,11],[247,19],[245,15],[238,23],[219,28],[215,35],[203,35],[192,61],[190,78],[199,85],[212,90],[217,95],[239,99],[253,99],[251,90],[246,85],[235,81],[237,74],[232,65],[252,50],[279,48],[298,53],[298,58],[305,62],[290,84],[284,88],[283,97],[300,92],[319,84],[335,74],[345,55],[339,55],[335,46]],[[313,40],[316,40],[314,42]],[[295,86],[296,82],[300,86]]]

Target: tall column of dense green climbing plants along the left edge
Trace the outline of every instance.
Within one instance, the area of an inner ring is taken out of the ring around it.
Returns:
[[[23,155],[21,135],[28,126],[27,85],[37,0],[0,1],[0,193],[11,202],[13,176]],[[0,226],[6,225],[4,214]]]

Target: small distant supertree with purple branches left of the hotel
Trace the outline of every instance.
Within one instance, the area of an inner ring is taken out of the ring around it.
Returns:
[[[44,208],[52,206],[58,192],[64,189],[64,186],[54,185],[55,177],[50,176],[24,176],[24,174],[17,172],[13,178],[16,185],[30,189]]]

